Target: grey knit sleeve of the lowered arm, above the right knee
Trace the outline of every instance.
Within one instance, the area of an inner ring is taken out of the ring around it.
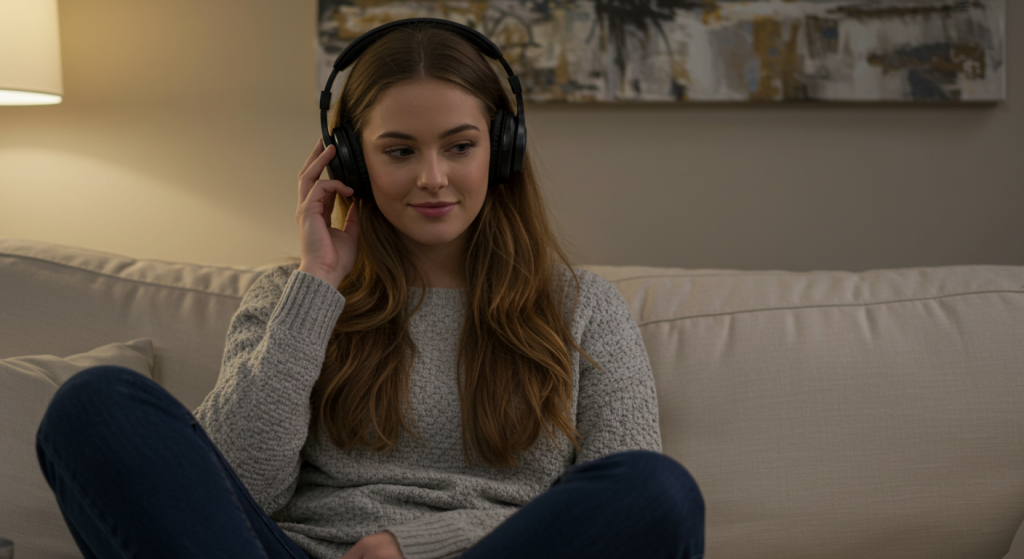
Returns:
[[[583,436],[574,464],[625,450],[662,451],[657,395],[650,360],[633,314],[618,290],[581,270],[580,346],[604,371],[580,357],[577,430]]]

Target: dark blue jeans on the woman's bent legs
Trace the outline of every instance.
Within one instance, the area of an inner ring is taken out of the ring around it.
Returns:
[[[193,415],[137,373],[96,367],[69,379],[36,453],[85,559],[308,559]],[[462,557],[699,559],[703,519],[679,463],[620,453],[572,467]]]

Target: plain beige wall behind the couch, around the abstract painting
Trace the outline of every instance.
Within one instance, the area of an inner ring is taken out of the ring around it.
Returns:
[[[1024,264],[1024,6],[994,106],[527,105],[583,263]],[[59,3],[65,102],[0,107],[0,236],[256,265],[298,255],[315,2]]]

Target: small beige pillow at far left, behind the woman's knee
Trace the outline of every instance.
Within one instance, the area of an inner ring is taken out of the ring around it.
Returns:
[[[108,344],[66,358],[0,359],[0,535],[14,542],[18,559],[82,557],[39,468],[36,431],[57,388],[99,364],[153,378],[153,342]]]

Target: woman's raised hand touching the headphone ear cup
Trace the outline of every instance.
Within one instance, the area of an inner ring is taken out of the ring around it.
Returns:
[[[299,269],[338,287],[355,264],[359,219],[358,208],[353,206],[345,219],[344,229],[331,226],[334,197],[350,197],[354,192],[340,180],[319,180],[335,149],[334,145],[324,149],[323,140],[316,140],[316,146],[299,172],[299,205],[295,220],[299,223],[302,251]],[[353,201],[353,204],[358,203]]]

